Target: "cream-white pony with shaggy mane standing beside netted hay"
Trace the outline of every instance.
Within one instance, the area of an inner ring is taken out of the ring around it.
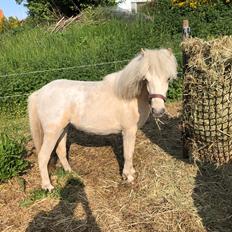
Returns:
[[[168,83],[176,77],[176,69],[171,49],[142,49],[127,66],[102,81],[55,80],[31,94],[29,120],[42,188],[53,189],[47,165],[54,148],[64,170],[71,171],[66,157],[66,128],[70,123],[87,133],[122,132],[123,176],[133,182],[136,132],[150,112],[155,117],[164,113]]]

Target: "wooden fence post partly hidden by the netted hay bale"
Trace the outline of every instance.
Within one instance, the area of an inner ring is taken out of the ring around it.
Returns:
[[[191,30],[189,27],[189,21],[188,19],[183,20],[183,27],[182,27],[182,41],[190,38],[191,36]],[[185,75],[185,71],[187,69],[187,64],[188,64],[188,56],[185,54],[184,50],[182,51],[183,53],[183,76]],[[184,80],[183,80],[184,82]],[[184,84],[184,83],[183,83]],[[186,96],[183,94],[183,114],[184,114],[184,109],[185,109],[185,102],[187,101]],[[183,120],[184,121],[184,120]],[[183,139],[183,158],[191,158],[190,153],[191,153],[191,145],[188,141],[188,131],[187,128],[185,127],[184,122],[182,123],[182,139]]]

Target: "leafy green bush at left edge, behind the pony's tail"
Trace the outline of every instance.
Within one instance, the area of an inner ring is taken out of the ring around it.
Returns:
[[[6,134],[0,135],[0,182],[22,173],[28,167],[28,161],[22,158],[22,141],[16,142]]]

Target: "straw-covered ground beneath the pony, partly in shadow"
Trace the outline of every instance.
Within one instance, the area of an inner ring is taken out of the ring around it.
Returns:
[[[59,198],[22,207],[20,202],[40,188],[37,157],[29,149],[25,191],[17,178],[0,185],[0,231],[231,232],[231,166],[197,166],[183,159],[180,104],[169,103],[167,110],[159,126],[151,118],[138,131],[133,185],[120,175],[120,136],[72,131],[70,164],[83,183],[68,179]],[[56,175],[51,178],[56,186]]]

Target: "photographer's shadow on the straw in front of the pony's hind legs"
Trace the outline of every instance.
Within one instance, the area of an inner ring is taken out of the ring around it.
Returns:
[[[59,204],[49,212],[38,213],[26,232],[101,231],[89,206],[84,185],[78,179],[69,179],[60,196]]]

